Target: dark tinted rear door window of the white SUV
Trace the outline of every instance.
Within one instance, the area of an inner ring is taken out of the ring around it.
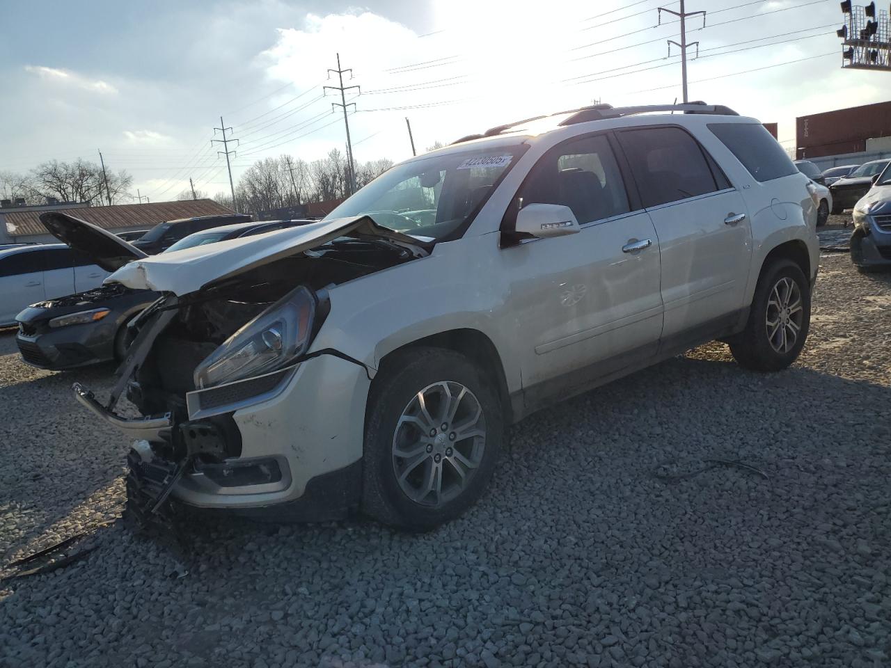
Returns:
[[[627,130],[618,133],[618,138],[631,163],[644,207],[719,190],[704,151],[681,128]]]

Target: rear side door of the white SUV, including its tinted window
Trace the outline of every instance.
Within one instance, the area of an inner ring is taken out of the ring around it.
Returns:
[[[683,128],[617,135],[658,236],[662,338],[720,329],[745,305],[752,238],[745,200]]]

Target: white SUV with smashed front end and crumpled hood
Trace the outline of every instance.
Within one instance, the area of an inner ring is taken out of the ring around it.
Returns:
[[[808,184],[725,107],[495,127],[319,223],[123,266],[109,281],[164,297],[110,400],[75,395],[135,437],[137,517],[426,529],[476,501],[508,426],[547,403],[715,338],[748,369],[792,363],[818,261]],[[113,412],[125,390],[142,420]]]

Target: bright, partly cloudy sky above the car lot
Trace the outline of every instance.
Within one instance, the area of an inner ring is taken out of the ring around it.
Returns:
[[[854,4],[857,4],[856,2]],[[84,158],[134,176],[132,195],[172,200],[283,153],[344,149],[344,75],[357,161],[410,158],[405,118],[435,142],[592,102],[680,99],[680,41],[658,0],[7,0],[0,12],[0,171]],[[780,124],[891,98],[891,73],[841,69],[836,0],[687,0],[691,100]],[[331,78],[329,78],[331,76]]]

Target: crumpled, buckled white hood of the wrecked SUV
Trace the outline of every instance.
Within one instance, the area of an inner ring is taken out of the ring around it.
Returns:
[[[381,227],[369,216],[335,218],[146,257],[122,266],[105,282],[183,296],[340,237],[393,241],[419,257],[427,255],[429,247],[423,240]]]

